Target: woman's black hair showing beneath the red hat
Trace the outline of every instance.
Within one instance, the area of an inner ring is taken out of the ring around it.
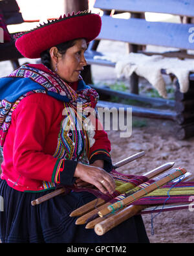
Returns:
[[[60,54],[65,54],[67,49],[74,46],[76,40],[70,40],[65,41],[65,43],[59,43],[58,45],[55,45],[57,47]],[[46,51],[41,52],[41,63],[48,67],[48,69],[51,69],[50,66],[50,48]]]

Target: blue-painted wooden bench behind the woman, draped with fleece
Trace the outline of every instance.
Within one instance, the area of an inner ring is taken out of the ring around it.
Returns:
[[[187,50],[194,49],[194,43],[189,42],[189,28],[194,27],[191,24],[191,17],[194,16],[193,1],[181,0],[96,0],[94,8],[103,10],[102,30],[96,40],[89,44],[86,52],[87,63],[85,78],[91,82],[91,65],[103,65],[114,67],[115,63],[94,58],[102,56],[98,52],[100,40],[123,41],[129,44],[129,52],[142,52],[147,55],[161,54],[158,52],[145,52],[146,45],[156,45],[162,47],[175,47],[177,51],[166,51],[164,56],[177,58],[194,58],[194,55],[188,54]],[[129,12],[129,19],[114,18],[113,14]],[[163,14],[178,15],[184,23],[167,23],[146,21],[145,12],[156,12]],[[111,15],[110,15],[111,14]],[[127,52],[128,53],[128,52]],[[105,52],[104,52],[105,54]],[[194,64],[194,60],[193,60]],[[165,70],[161,70],[166,74]],[[173,75],[173,74],[172,74]],[[186,139],[194,135],[194,74],[189,75],[189,91],[180,93],[178,80],[176,82],[175,100],[156,99],[138,95],[138,76],[131,75],[131,93],[124,93],[107,89],[107,87],[94,87],[100,95],[117,95],[120,99],[133,99],[142,103],[153,104],[154,108],[141,108],[131,106],[133,115],[139,117],[150,117],[156,119],[171,119],[177,123],[178,139]],[[100,102],[100,106],[113,107],[111,102]],[[122,106],[116,104],[115,106]],[[158,109],[155,108],[158,106]],[[164,107],[164,110],[162,108]]]

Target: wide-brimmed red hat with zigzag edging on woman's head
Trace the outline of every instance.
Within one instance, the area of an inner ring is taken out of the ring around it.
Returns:
[[[91,12],[72,13],[39,25],[36,29],[15,34],[16,48],[25,58],[40,58],[41,52],[78,38],[87,43],[100,33],[102,21],[98,14]]]

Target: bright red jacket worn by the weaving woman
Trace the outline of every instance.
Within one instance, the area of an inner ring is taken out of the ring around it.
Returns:
[[[54,186],[53,177],[59,159],[52,155],[64,118],[63,108],[63,102],[44,93],[34,93],[21,100],[14,110],[1,165],[1,179],[5,179],[10,187],[18,191],[39,192]],[[102,159],[102,155],[109,157],[111,143],[107,133],[98,130],[94,139],[88,156],[90,161],[96,156],[97,159]]]

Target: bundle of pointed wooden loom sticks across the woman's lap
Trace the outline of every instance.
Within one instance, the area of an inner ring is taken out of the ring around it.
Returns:
[[[133,156],[127,157],[126,159],[116,163],[113,166],[113,169],[117,169],[118,167],[121,167],[144,155],[145,152],[140,152]],[[110,202],[105,202],[105,200],[102,198],[96,198],[92,202],[89,202],[88,204],[85,204],[72,211],[70,216],[79,216],[79,218],[76,220],[76,225],[87,224],[85,228],[94,228],[97,235],[103,235],[113,227],[116,227],[121,222],[127,220],[127,218],[130,218],[131,216],[134,216],[144,210],[146,211],[146,208],[149,207],[149,205],[133,205],[133,203],[139,198],[142,198],[149,192],[155,191],[156,189],[166,185],[169,183],[169,181],[180,178],[180,176],[184,176],[184,180],[191,181],[191,174],[186,172],[185,169],[172,169],[174,164],[174,162],[166,163],[143,174],[147,180],[152,180],[152,183],[142,183],[134,189],[129,190],[127,194],[125,193],[122,200],[118,200],[118,202],[111,204]],[[32,201],[31,204],[41,204],[41,202],[44,202],[63,192],[65,192],[64,188],[57,189],[54,192],[50,192],[49,194]],[[173,209],[173,207],[178,208],[178,205],[167,205],[167,207],[171,207]],[[188,204],[181,205],[181,209],[185,209],[186,207],[188,207]]]

